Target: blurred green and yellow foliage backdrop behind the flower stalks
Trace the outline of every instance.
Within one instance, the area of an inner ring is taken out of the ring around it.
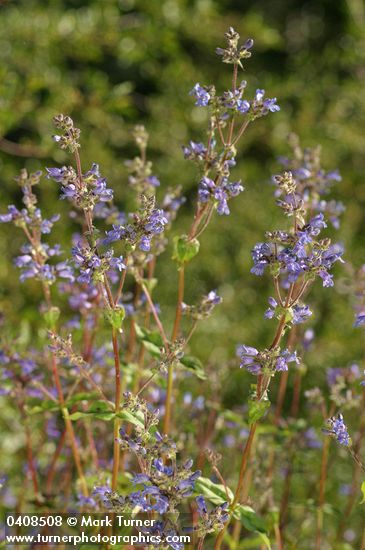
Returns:
[[[267,281],[249,273],[249,251],[266,230],[277,227],[269,180],[278,170],[275,157],[288,150],[290,132],[303,145],[321,143],[323,164],[340,169],[343,181],[337,195],[347,209],[341,229],[346,259],[356,266],[365,262],[363,2],[18,0],[0,5],[2,209],[19,199],[13,177],[22,166],[33,170],[67,162],[50,138],[58,112],[70,114],[82,128],[83,164],[102,166],[119,205],[127,185],[123,160],[134,155],[130,129],[137,122],[151,135],[150,155],[162,186],[181,184],[191,199],[197,174],[184,161],[181,146],[199,140],[205,119],[188,92],[197,81],[228,87],[230,71],[214,50],[229,25],[255,40],[254,55],[246,64],[251,95],[256,87],[267,89],[278,98],[281,111],[246,133],[237,169],[246,191],[234,201],[230,219],[213,220],[202,239],[200,261],[192,262],[187,275],[188,303],[211,288],[218,288],[224,299],[210,322],[199,328],[195,352],[223,372],[227,405],[243,404],[248,393],[248,375],[232,363],[236,343],[259,347],[270,339],[272,327],[262,320]],[[54,184],[45,180],[41,192],[46,212],[59,211]],[[176,234],[186,227],[189,210],[188,200]],[[67,243],[74,228],[66,209],[62,223]],[[10,325],[14,312],[22,309],[21,338],[30,342],[37,330],[37,290],[24,287],[19,292],[10,258],[21,237],[0,229],[0,305]],[[157,299],[165,319],[172,318],[176,292],[175,266],[168,254],[157,267],[164,281]],[[337,279],[344,276],[340,266]],[[305,386],[322,384],[328,367],[362,359],[364,341],[361,331],[352,328],[345,286],[318,293],[311,321],[316,342],[306,358],[311,380],[305,377]],[[19,333],[18,326],[13,330]],[[18,443],[8,437],[7,445],[15,452]],[[340,510],[337,485],[329,481]]]

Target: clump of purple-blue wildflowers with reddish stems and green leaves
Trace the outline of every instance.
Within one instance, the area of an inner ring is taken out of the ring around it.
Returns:
[[[237,413],[222,412],[217,411],[216,396],[211,402],[206,402],[204,395],[183,397],[187,415],[200,419],[204,409],[211,409],[196,461],[190,456],[191,430],[179,429],[180,381],[195,376],[214,391],[221,383],[214,374],[207,375],[199,358],[189,355],[189,344],[199,324],[210,322],[222,297],[219,290],[207,288],[196,303],[186,303],[187,266],[199,255],[200,237],[212,216],[229,216],[231,201],[242,200],[239,196],[244,186],[231,172],[245,131],[258,119],[280,110],[276,98],[267,97],[262,89],[252,96],[246,81],[240,81],[252,49],[252,39],[241,43],[239,34],[230,28],[224,47],[216,52],[223,63],[232,66],[230,88],[219,91],[214,85],[197,83],[190,92],[195,105],[206,111],[207,140],[190,141],[182,148],[184,158],[193,162],[197,171],[194,213],[183,234],[173,234],[173,223],[185,202],[182,189],[165,189],[155,174],[148,159],[146,129],[137,126],[133,130],[137,154],[125,163],[125,188],[132,196],[132,211],[126,212],[114,201],[113,189],[99,165],[95,162],[84,168],[82,132],[70,116],[63,114],[54,117],[53,140],[67,160],[64,166],[47,167],[42,185],[57,186],[60,199],[68,203],[78,224],[68,249],[53,241],[62,223],[59,214],[45,218],[39,207],[40,171],[20,172],[16,182],[23,206],[10,205],[0,215],[0,222],[12,223],[24,233],[25,242],[15,259],[21,283],[34,279],[43,295],[38,311],[38,347],[23,350],[17,339],[4,337],[0,351],[2,395],[15,398],[23,420],[33,501],[38,507],[53,510],[72,505],[131,515],[146,513],[156,522],[149,531],[141,532],[160,539],[158,546],[149,548],[183,548],[170,539],[183,532],[187,514],[198,550],[213,540],[219,550],[228,535],[237,541],[241,525],[260,544],[269,547],[269,536],[273,535],[282,547],[280,518],[271,516],[270,523],[258,513],[266,511],[261,501],[273,508],[274,496],[260,495],[259,503],[250,506],[252,457],[254,452],[260,457],[261,423],[265,418],[271,421],[275,378],[280,377],[280,382],[272,428],[280,435],[280,422],[285,423],[282,404],[286,380],[294,371],[298,383],[293,418],[285,424],[289,432],[285,445],[292,453],[291,445],[297,443],[300,432],[304,436],[301,445],[306,441],[312,449],[320,447],[313,428],[299,425],[295,418],[302,356],[313,340],[312,328],[302,330],[302,325],[315,316],[309,291],[320,282],[323,292],[331,292],[334,266],[343,262],[343,247],[331,241],[327,226],[330,223],[339,228],[344,207],[328,199],[333,185],[341,181],[339,173],[325,171],[320,150],[302,149],[295,136],[290,138],[293,156],[280,159],[284,171],[272,180],[283,225],[269,227],[262,242],[252,248],[252,277],[265,277],[272,287],[263,322],[275,323],[276,328],[266,347],[254,347],[254,342],[237,346],[235,368],[239,366],[252,377],[247,405]],[[164,318],[165,304],[156,303],[154,296],[156,286],[163,285],[157,279],[156,265],[165,261],[161,255],[170,242],[177,266],[172,327]],[[363,324],[361,315],[357,325]],[[339,377],[338,373],[328,374],[333,381],[329,383],[329,410],[316,389],[307,392],[308,401],[324,413],[324,420],[330,417],[325,434],[346,447],[362,467],[359,449],[352,444],[342,414],[333,416],[336,407],[346,410],[356,402],[348,384],[358,375],[355,371],[347,377],[342,371]],[[42,459],[38,461],[31,422],[39,413],[44,416],[46,434],[54,440],[55,450],[52,456],[48,448],[41,448]],[[239,432],[237,440],[232,436],[233,442],[227,434],[224,439],[226,445],[240,447],[240,467],[233,475],[225,474],[226,463],[223,460],[220,465],[219,453],[203,449],[217,444],[215,431],[222,426],[234,426]],[[245,440],[243,449],[241,440]],[[327,460],[328,444],[323,460]],[[68,450],[77,472],[69,500],[67,495],[58,495],[55,487]],[[268,485],[274,477],[275,453],[269,453],[265,464]],[[50,465],[46,468],[47,460]],[[321,481],[323,484],[323,477]],[[290,478],[288,484],[290,487]],[[323,511],[323,490],[319,510]],[[284,517],[284,505],[282,512]],[[317,527],[319,547],[320,521]]]

